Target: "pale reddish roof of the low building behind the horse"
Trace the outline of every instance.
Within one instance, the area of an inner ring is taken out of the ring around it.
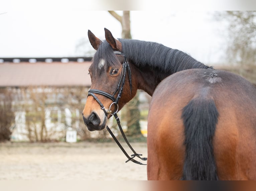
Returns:
[[[0,87],[91,86],[91,62],[1,63]]]

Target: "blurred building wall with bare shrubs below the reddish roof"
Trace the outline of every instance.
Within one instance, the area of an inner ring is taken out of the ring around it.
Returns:
[[[88,87],[23,87],[7,88],[12,93],[15,120],[12,140],[65,140],[68,127],[78,131],[79,138],[89,135],[82,110]]]

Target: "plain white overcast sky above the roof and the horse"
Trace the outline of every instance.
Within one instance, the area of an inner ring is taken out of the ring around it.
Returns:
[[[65,2],[12,0],[2,4],[0,58],[80,56],[75,47],[80,39],[88,39],[88,29],[101,39],[104,27],[115,38],[121,37],[120,23],[107,11],[87,10],[86,1]],[[225,26],[215,21],[213,13],[131,11],[132,38],[179,49],[205,64],[223,63]]]

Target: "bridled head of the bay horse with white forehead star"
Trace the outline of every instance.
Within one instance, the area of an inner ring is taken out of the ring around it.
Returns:
[[[131,100],[137,88],[134,80],[131,84],[132,74],[122,54],[121,42],[106,28],[105,41],[101,41],[90,30],[88,37],[97,52],[89,68],[92,85],[83,110],[83,119],[88,129],[94,131],[104,129],[111,114]]]

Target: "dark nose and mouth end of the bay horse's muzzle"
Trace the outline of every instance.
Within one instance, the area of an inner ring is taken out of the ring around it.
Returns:
[[[83,119],[89,131],[100,131],[105,128],[107,117],[104,117],[102,124],[100,117],[95,112],[92,112],[89,117],[83,115]]]

